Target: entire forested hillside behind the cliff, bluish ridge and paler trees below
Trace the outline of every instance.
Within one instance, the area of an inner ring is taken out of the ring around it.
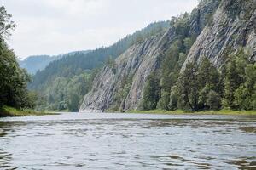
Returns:
[[[38,93],[38,110],[78,111],[84,94],[90,90],[90,84],[102,65],[112,63],[132,44],[161,34],[169,27],[169,21],[155,22],[108,48],[97,48],[87,54],[65,55],[49,63],[33,76],[29,84],[29,88]]]

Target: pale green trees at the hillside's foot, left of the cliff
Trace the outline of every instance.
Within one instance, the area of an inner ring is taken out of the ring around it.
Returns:
[[[57,77],[40,90],[36,109],[79,111],[97,71],[82,71],[73,77]],[[38,91],[39,92],[39,91]]]

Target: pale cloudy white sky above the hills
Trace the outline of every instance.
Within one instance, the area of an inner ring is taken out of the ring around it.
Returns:
[[[109,46],[159,20],[190,12],[198,0],[0,0],[17,25],[8,39],[24,59]]]

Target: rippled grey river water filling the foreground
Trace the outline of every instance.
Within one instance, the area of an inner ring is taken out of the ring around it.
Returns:
[[[256,116],[0,119],[0,169],[256,169]]]

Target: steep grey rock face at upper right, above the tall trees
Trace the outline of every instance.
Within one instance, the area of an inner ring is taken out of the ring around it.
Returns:
[[[212,23],[201,31],[190,48],[183,69],[188,62],[200,62],[207,57],[213,65],[224,64],[227,52],[243,47],[255,61],[256,55],[256,1],[222,1],[213,15]],[[183,70],[182,69],[182,70]]]

